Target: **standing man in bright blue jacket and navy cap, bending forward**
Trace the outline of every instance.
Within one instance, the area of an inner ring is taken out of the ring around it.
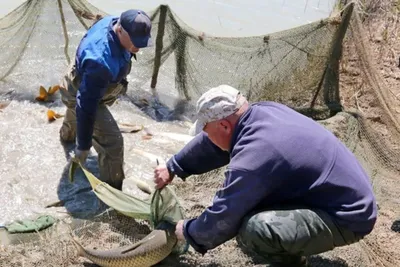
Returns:
[[[100,179],[121,189],[124,143],[106,107],[126,92],[131,57],[151,44],[151,21],[141,10],[127,10],[97,21],[82,38],[75,60],[61,83],[67,106],[62,141],[76,140],[75,157],[84,163],[92,147],[98,153]]]

